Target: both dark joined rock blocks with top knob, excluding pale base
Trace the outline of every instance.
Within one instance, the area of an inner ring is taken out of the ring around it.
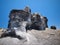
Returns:
[[[24,10],[12,10],[9,15],[8,28],[14,29],[18,28],[22,24],[19,24],[22,21],[26,21],[26,30],[36,29],[36,30],[45,30],[47,25],[47,17],[40,16],[39,14],[31,14],[31,9],[26,7]]]

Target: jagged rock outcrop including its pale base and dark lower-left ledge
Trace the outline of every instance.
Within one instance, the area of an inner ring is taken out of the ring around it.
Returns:
[[[9,15],[8,29],[1,35],[3,37],[15,37],[26,39],[27,30],[45,30],[48,27],[48,19],[38,13],[31,14],[31,9],[11,10]]]

